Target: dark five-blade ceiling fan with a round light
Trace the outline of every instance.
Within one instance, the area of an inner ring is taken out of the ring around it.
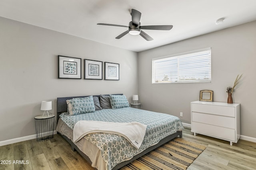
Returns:
[[[142,31],[142,29],[151,29],[151,30],[170,30],[172,29],[172,25],[140,25],[140,16],[141,13],[137,10],[132,9],[131,12],[132,21],[130,21],[129,26],[125,25],[116,25],[116,24],[109,24],[109,23],[97,23],[97,25],[109,25],[109,26],[116,26],[116,27],[128,27],[128,30],[121,33],[116,37],[116,39],[122,38],[124,35],[130,33],[131,35],[140,35],[147,41],[152,41],[153,38],[150,37],[147,33]]]

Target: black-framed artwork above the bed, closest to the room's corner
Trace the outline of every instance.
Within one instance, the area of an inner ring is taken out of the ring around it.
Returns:
[[[105,62],[105,80],[119,80],[119,64]]]

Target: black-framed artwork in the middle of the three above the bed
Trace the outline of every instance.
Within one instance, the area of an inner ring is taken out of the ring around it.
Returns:
[[[84,59],[84,79],[102,80],[102,61]]]

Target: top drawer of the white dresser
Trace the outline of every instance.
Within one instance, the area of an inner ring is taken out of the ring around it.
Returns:
[[[192,112],[210,113],[214,115],[223,115],[229,117],[235,117],[235,108],[227,106],[216,106],[207,104],[192,104]]]

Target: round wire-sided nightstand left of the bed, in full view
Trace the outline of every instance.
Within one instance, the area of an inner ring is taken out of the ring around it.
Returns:
[[[36,141],[45,141],[53,138],[55,115],[39,115],[35,117]]]

